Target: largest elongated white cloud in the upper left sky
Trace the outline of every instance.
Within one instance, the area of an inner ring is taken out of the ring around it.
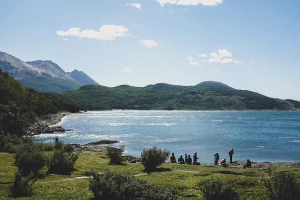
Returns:
[[[125,37],[130,36],[130,34],[126,34],[129,32],[123,26],[116,25],[103,25],[99,28],[99,31],[95,31],[92,29],[85,29],[80,31],[81,29],[78,27],[74,27],[69,29],[68,31],[57,31],[57,35],[59,36],[75,36],[79,38],[90,38],[90,39],[100,39],[103,41],[106,40],[115,40],[116,37]]]

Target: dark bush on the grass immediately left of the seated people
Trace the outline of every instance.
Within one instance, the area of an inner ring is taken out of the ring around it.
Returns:
[[[167,149],[160,149],[156,146],[152,148],[144,148],[141,154],[141,161],[145,167],[145,171],[155,171],[156,167],[161,165],[169,157],[170,152]]]

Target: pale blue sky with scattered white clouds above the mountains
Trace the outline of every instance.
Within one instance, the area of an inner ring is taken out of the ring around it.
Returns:
[[[300,100],[300,1],[3,1],[0,51],[100,85],[217,81]]]

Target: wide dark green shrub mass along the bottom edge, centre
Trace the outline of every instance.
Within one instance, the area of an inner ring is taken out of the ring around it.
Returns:
[[[117,171],[106,171],[104,174],[92,171],[90,190],[95,199],[177,199],[174,189],[147,184],[145,180]]]

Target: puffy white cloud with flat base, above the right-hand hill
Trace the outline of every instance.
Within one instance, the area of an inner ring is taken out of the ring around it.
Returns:
[[[201,57],[201,55],[200,55]],[[227,49],[219,49],[217,52],[213,52],[209,54],[209,58],[202,60],[202,62],[209,62],[209,63],[234,63],[240,64],[238,60],[232,59],[232,54]]]

